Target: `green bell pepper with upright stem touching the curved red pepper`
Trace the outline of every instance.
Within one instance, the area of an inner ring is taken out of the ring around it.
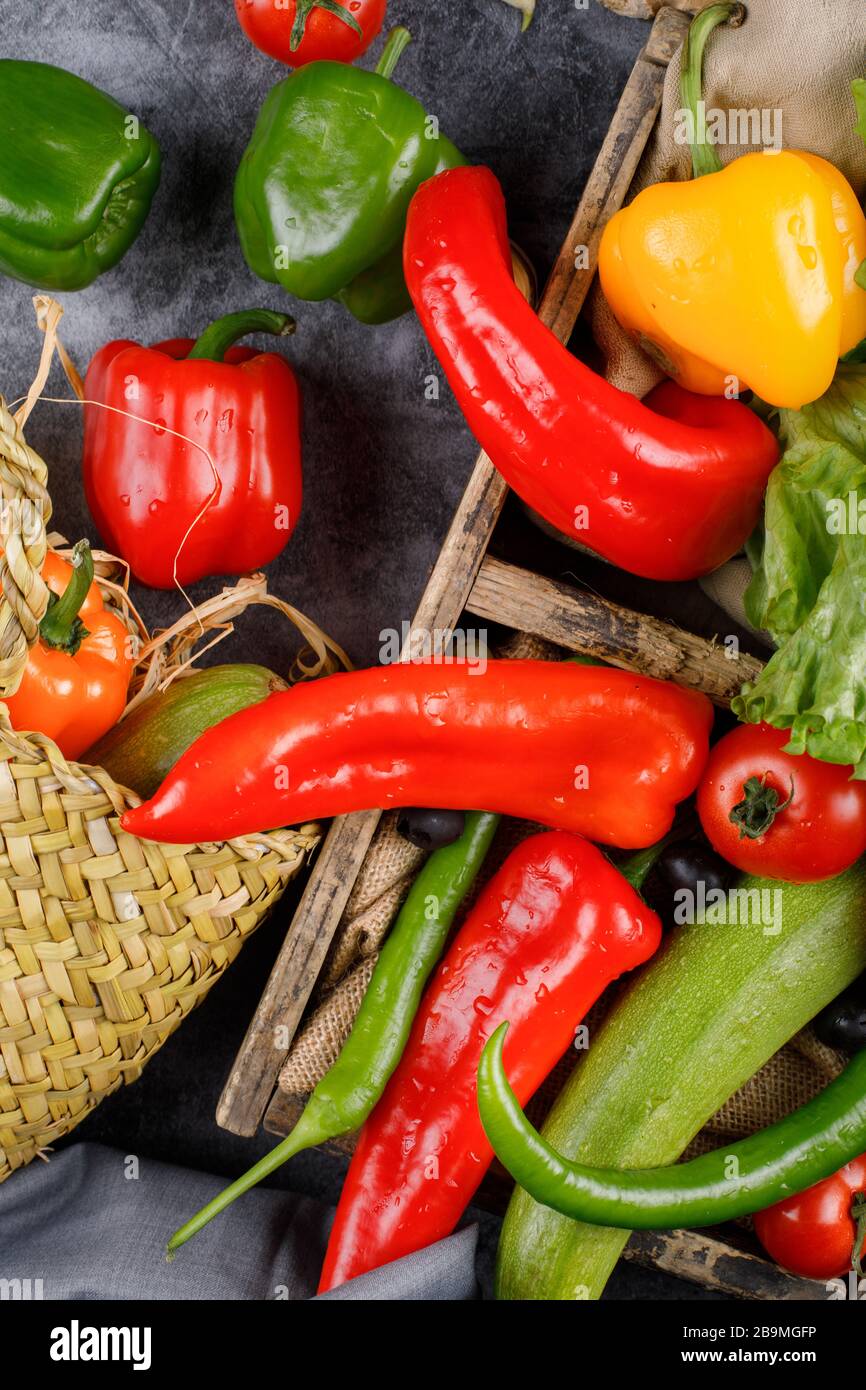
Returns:
[[[339,299],[361,322],[411,307],[402,245],[413,193],[466,160],[391,82],[395,29],[375,72],[310,63],[265,97],[235,181],[250,268],[297,299]]]

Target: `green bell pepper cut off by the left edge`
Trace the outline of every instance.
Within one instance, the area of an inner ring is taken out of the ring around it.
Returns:
[[[83,289],[126,253],[160,182],[160,147],[83,78],[0,60],[0,271]]]

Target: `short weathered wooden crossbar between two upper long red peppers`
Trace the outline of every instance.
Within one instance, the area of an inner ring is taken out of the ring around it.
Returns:
[[[595,656],[626,671],[642,671],[703,691],[727,708],[744,681],[753,681],[762,663],[748,652],[708,642],[670,623],[531,570],[487,556],[466,600],[475,617],[544,637],[584,656]]]

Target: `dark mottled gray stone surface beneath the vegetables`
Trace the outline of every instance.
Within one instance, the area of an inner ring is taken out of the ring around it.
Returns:
[[[246,268],[231,214],[234,172],[256,111],[282,70],[256,53],[229,0],[32,0],[4,15],[4,57],[74,68],[138,113],[164,153],[150,220],[118,268],[65,299],[63,334],[83,367],[104,341],[154,341],[199,331],[252,303],[286,306],[281,291]],[[392,0],[416,42],[399,81],[434,111],[452,139],[505,183],[514,238],[544,279],[610,121],[646,26],[594,0],[539,0],[527,35],[500,0],[424,4]],[[377,53],[374,50],[374,53]],[[368,329],[335,304],[297,304],[288,353],[304,391],[303,520],[271,567],[271,588],[304,609],[357,663],[377,659],[379,632],[410,619],[471,468],[475,448],[446,388],[424,399],[432,354],[413,317]],[[25,393],[39,356],[31,291],[0,281],[6,325],[0,389]],[[51,395],[67,395],[58,373]],[[54,524],[93,535],[79,480],[81,420],[72,406],[42,404],[29,442],[50,467]],[[496,549],[646,610],[676,614],[712,634],[717,613],[695,587],[641,585],[542,541],[510,505]],[[196,599],[220,585],[195,587]],[[179,595],[138,592],[150,624],[174,620]],[[254,659],[285,670],[292,642],[279,620],[252,613],[220,659]],[[245,1169],[268,1145],[235,1138],[214,1122],[224,1079],[289,920],[292,902],[247,945],[228,979],[129,1090],[114,1095],[78,1134],[126,1152]],[[335,1200],[342,1165],[300,1155],[277,1182]],[[484,1220],[489,1269],[496,1222]],[[620,1266],[621,1298],[699,1297],[691,1286]]]

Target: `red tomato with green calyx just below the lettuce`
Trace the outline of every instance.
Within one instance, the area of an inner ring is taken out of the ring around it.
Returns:
[[[698,787],[703,833],[745,873],[785,883],[833,878],[866,851],[866,783],[851,781],[851,767],[784,753],[787,742],[769,724],[741,724],[719,739]],[[731,820],[745,799],[753,834]]]

